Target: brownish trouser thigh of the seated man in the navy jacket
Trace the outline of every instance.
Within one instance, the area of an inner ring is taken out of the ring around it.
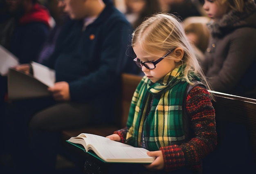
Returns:
[[[88,124],[92,115],[92,107],[88,104],[59,103],[37,112],[29,122],[29,127],[50,131],[74,128]]]

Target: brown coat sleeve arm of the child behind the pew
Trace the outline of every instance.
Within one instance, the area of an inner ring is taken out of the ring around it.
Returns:
[[[253,30],[255,29],[241,28],[230,35],[225,61],[221,62],[218,73],[208,79],[213,90],[221,92],[233,90],[255,62],[256,34]]]

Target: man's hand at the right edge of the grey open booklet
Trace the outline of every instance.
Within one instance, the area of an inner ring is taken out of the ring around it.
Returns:
[[[52,96],[56,101],[69,101],[70,88],[66,81],[59,81],[54,84],[54,87],[48,88],[52,92]]]

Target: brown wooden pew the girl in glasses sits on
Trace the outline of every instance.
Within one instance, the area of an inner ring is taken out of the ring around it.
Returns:
[[[81,150],[76,147],[71,147],[71,145],[66,143],[65,140],[69,139],[70,137],[77,136],[82,132],[107,136],[112,134],[112,132],[115,130],[124,128],[126,126],[132,95],[141,78],[142,77],[138,75],[122,75],[122,91],[119,103],[121,106],[117,105],[117,124],[109,126],[85,127],[76,130],[65,130],[62,133],[64,142],[63,145],[67,146],[65,148],[68,148],[71,153],[76,153],[76,155],[83,155],[85,153],[81,152]],[[218,93],[211,90],[209,90],[209,92],[212,93],[216,99],[216,101],[213,101],[213,107],[216,110],[217,122],[231,121],[244,124],[247,126],[247,128],[249,128],[249,138],[254,152],[254,160],[256,162],[256,99]],[[217,133],[221,134],[222,132]],[[81,156],[81,158],[83,158],[83,156]]]

